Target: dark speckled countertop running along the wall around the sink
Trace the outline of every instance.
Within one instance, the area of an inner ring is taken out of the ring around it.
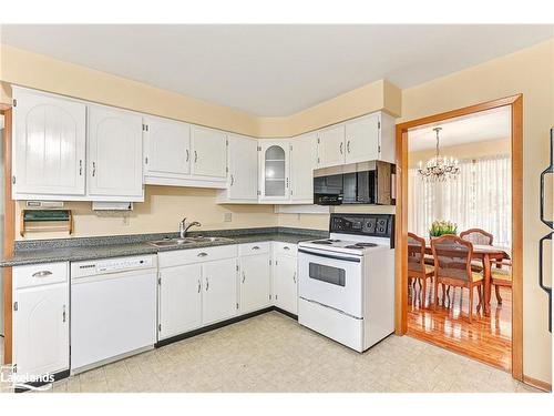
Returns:
[[[156,254],[173,250],[189,250],[261,241],[278,241],[297,244],[305,240],[327,237],[328,233],[326,231],[306,229],[264,227],[192,232],[189,235],[220,236],[230,239],[230,241],[202,242],[187,244],[186,246],[178,245],[171,247],[155,247],[147,243],[148,241],[163,240],[164,237],[176,237],[177,233],[18,241],[16,242],[16,252],[10,257],[1,258],[0,267]]]

